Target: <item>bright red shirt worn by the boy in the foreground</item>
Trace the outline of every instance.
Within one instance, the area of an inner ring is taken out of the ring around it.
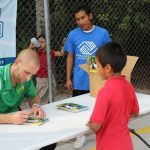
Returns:
[[[97,95],[90,118],[102,125],[96,133],[96,150],[133,150],[128,122],[137,112],[135,91],[125,77],[108,79]]]

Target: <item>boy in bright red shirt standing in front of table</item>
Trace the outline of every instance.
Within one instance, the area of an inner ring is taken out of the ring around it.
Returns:
[[[110,42],[96,52],[98,72],[107,80],[87,124],[96,133],[96,150],[133,150],[128,123],[138,115],[139,105],[132,85],[121,76],[126,60],[117,43]]]

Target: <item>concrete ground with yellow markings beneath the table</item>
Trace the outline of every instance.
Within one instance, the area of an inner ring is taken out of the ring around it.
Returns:
[[[140,134],[144,140],[146,140],[150,144],[150,114],[144,115],[142,117],[136,118],[129,123],[129,127],[136,130],[138,134]],[[138,139],[135,135],[131,134],[132,141],[134,145],[134,150],[149,150],[140,139]],[[56,150],[74,150],[73,144],[69,141],[60,142]],[[90,134],[87,136],[87,142],[80,150],[96,150],[95,148],[95,136]]]

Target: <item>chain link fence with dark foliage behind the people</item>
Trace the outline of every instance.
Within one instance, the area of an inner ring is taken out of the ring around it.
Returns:
[[[76,27],[72,11],[79,3],[93,12],[93,23],[106,28],[113,41],[120,43],[128,55],[139,60],[132,72],[137,91],[150,94],[150,0],[50,0],[51,48],[60,50],[62,40]],[[30,39],[44,33],[43,0],[18,0],[17,52],[28,47]],[[57,90],[54,99],[68,97],[66,55],[55,59]]]

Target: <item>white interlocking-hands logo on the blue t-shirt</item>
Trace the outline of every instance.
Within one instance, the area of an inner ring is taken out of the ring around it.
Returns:
[[[97,48],[94,42],[84,41],[78,46],[80,52],[84,55],[92,55],[96,52]]]

